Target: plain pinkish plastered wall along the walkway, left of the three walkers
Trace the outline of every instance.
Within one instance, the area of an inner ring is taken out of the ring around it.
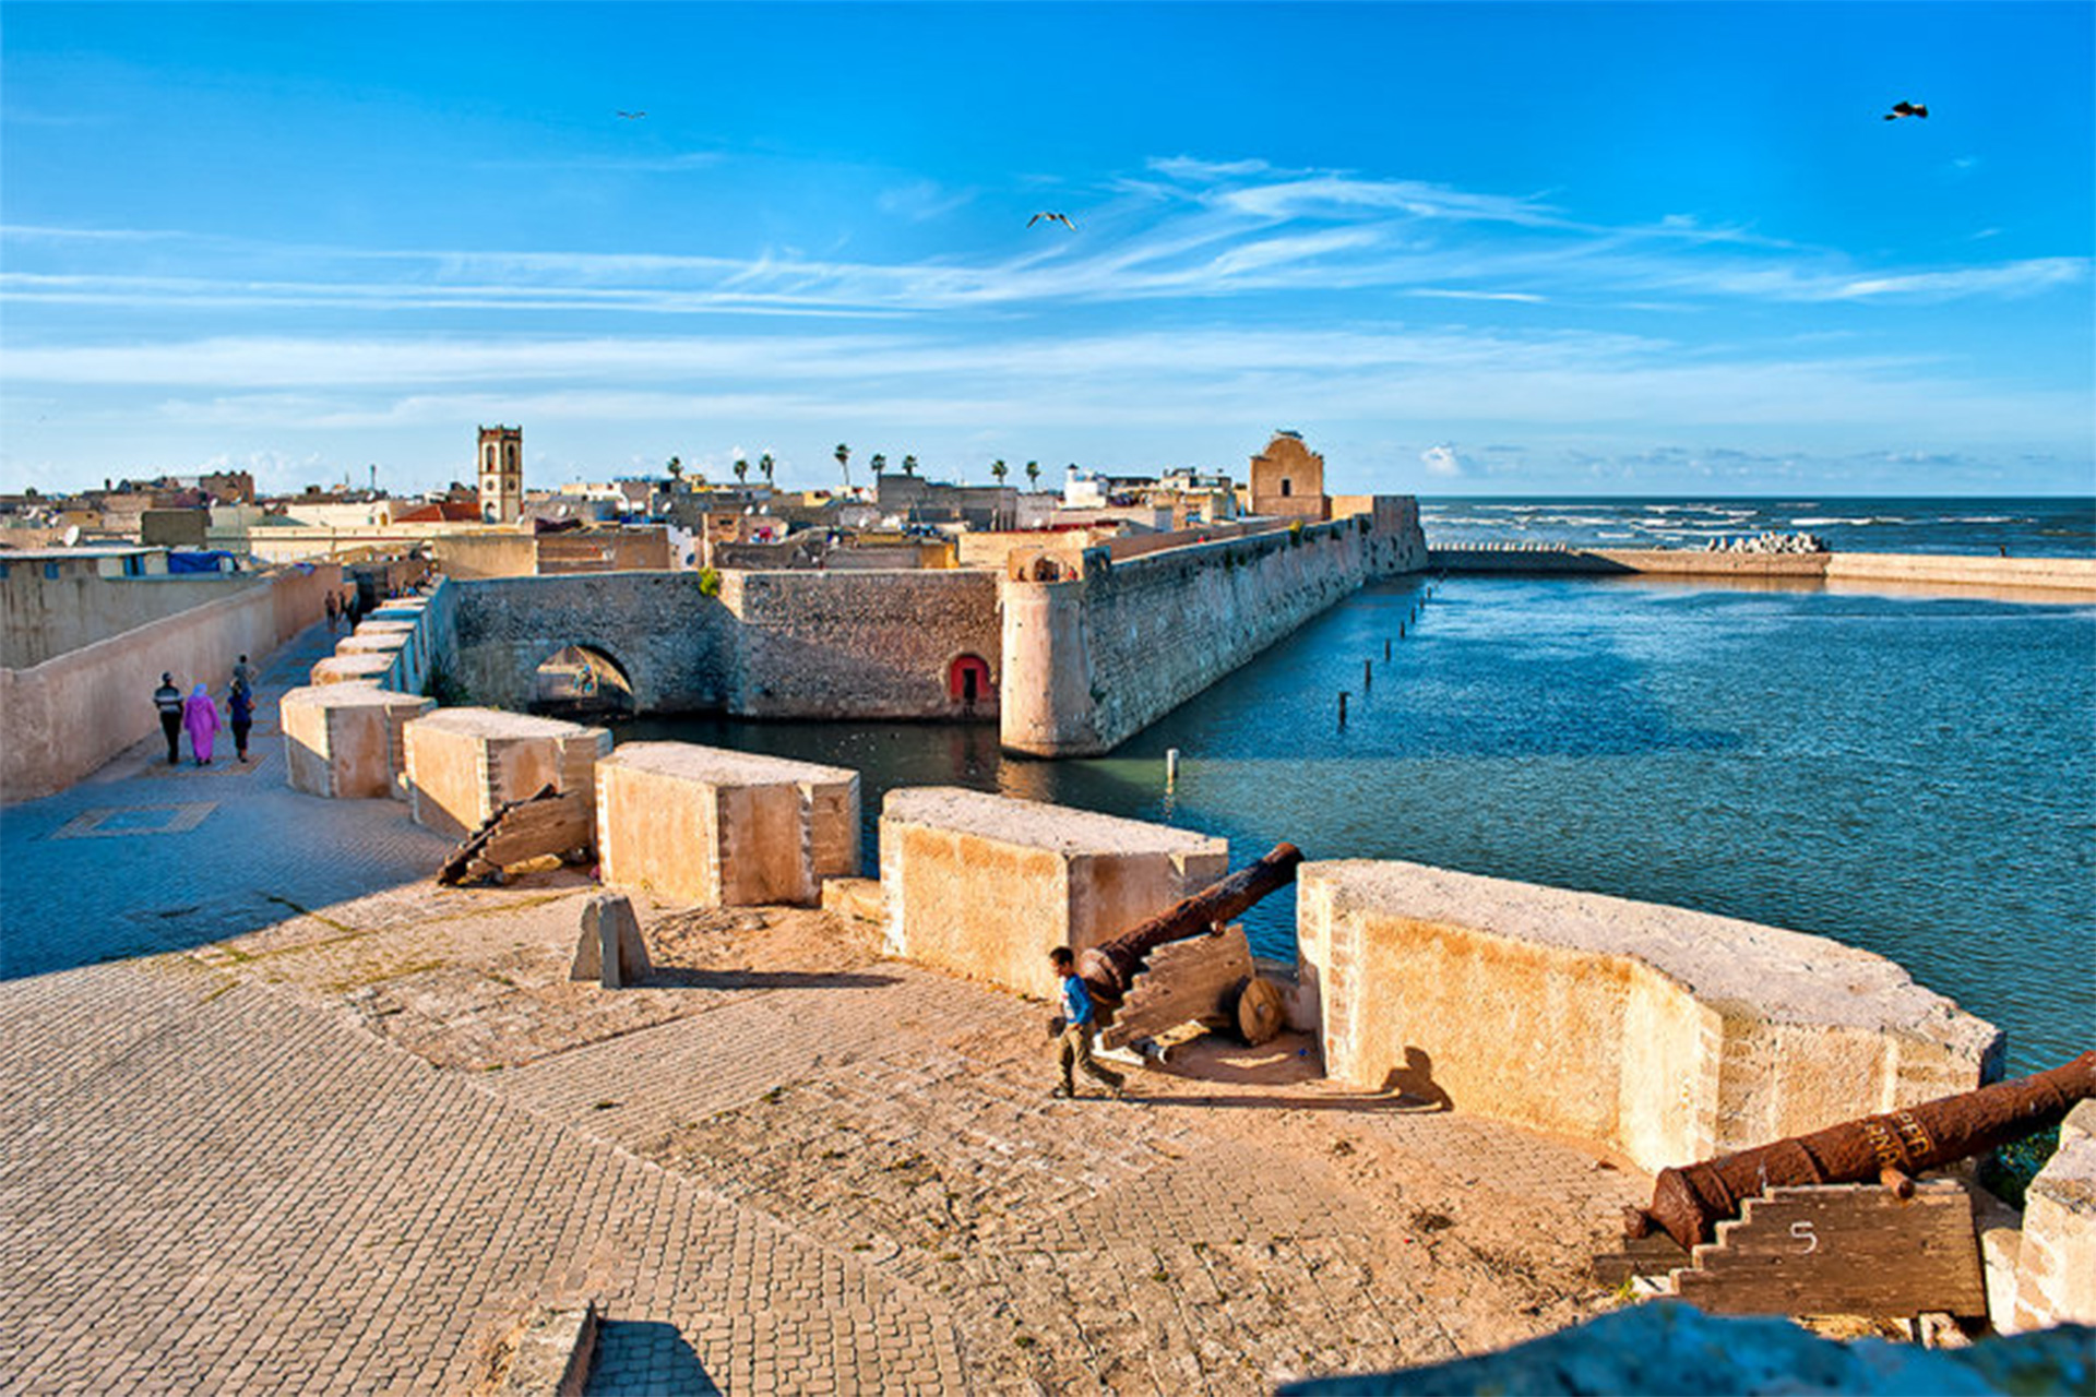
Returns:
[[[153,689],[172,672],[224,695],[233,662],[254,662],[321,620],[342,584],[333,563],[283,568],[262,584],[161,616],[29,668],[0,668],[0,798],[48,796],[159,731]]]

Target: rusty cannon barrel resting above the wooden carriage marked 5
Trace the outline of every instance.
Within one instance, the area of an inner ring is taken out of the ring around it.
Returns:
[[[1916,1173],[2058,1125],[2090,1097],[2096,1097],[2096,1051],[2048,1072],[1662,1169],[1652,1185],[1652,1206],[1624,1208],[1624,1232],[1643,1238],[1658,1227],[1681,1246],[1696,1246],[1708,1242],[1721,1221],[1738,1217],[1746,1198],[1777,1185],[1878,1179],[1907,1198]]]

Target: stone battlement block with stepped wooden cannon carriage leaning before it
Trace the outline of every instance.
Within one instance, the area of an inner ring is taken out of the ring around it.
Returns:
[[[593,808],[602,727],[499,708],[438,708],[407,725],[407,790],[415,823],[463,838],[509,800],[543,788],[576,792]]]

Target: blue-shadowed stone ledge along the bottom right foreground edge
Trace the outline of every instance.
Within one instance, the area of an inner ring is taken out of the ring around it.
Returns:
[[[1970,1349],[1836,1343],[1788,1320],[1719,1320],[1656,1301],[1503,1353],[1283,1387],[1285,1397],[1404,1393],[2086,1393],[2096,1332],[2060,1328]]]

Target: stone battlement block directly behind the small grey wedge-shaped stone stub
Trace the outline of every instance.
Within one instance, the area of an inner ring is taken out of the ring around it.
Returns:
[[[706,907],[811,905],[859,871],[859,773],[687,741],[597,762],[604,882]]]

